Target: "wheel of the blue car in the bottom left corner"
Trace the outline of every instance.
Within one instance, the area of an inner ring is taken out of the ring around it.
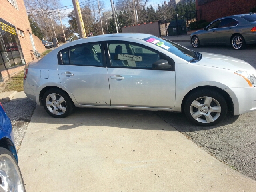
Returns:
[[[6,148],[0,147],[0,183],[9,186],[8,191],[26,192],[20,168],[14,156]],[[8,179],[4,180],[7,176]],[[8,187],[7,187],[8,188]]]

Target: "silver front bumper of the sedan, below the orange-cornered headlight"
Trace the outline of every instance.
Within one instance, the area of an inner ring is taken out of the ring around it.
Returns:
[[[234,104],[234,115],[256,111],[256,87],[224,89]]]

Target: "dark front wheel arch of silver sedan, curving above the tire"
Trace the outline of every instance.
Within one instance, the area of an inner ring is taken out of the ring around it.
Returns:
[[[184,103],[185,103],[186,99],[188,98],[188,96],[192,92],[195,92],[195,91],[198,91],[198,90],[202,90],[202,89],[211,89],[211,90],[215,90],[215,91],[219,92],[224,97],[224,99],[226,100],[226,103],[227,103],[227,106],[228,106],[228,111],[234,112],[234,104],[233,104],[233,101],[232,101],[232,98],[230,97],[230,95],[226,91],[224,91],[223,89],[218,88],[216,86],[200,86],[200,87],[196,87],[196,88],[190,90],[184,96],[184,98],[182,100],[182,104],[181,104],[181,111],[182,112],[184,112]]]

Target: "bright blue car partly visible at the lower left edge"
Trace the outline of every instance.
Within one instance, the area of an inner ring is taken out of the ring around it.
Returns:
[[[0,191],[25,192],[12,124],[0,103]]]

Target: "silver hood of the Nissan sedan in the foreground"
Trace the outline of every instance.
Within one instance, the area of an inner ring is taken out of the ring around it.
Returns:
[[[223,68],[233,71],[246,70],[256,75],[256,70],[254,67],[243,60],[214,53],[200,53],[202,54],[202,58],[195,64]]]

